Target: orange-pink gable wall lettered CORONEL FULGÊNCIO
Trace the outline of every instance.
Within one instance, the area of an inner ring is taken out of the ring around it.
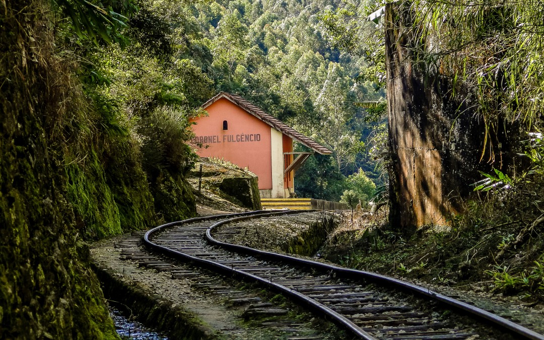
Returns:
[[[240,168],[247,166],[259,177],[259,189],[272,189],[270,126],[226,98],[210,104],[206,111],[207,117],[192,120],[196,123],[193,141],[203,144],[196,153],[225,158]],[[224,120],[228,122],[226,131]]]

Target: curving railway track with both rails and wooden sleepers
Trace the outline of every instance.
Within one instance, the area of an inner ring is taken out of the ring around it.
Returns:
[[[484,320],[512,339],[544,340],[544,336],[509,320],[411,283],[229,243],[242,232],[232,222],[297,213],[300,212],[261,211],[194,218],[153,228],[143,240],[160,254],[239,280],[257,282],[284,294],[355,338],[502,338],[482,333],[486,331],[472,324],[460,327],[441,317],[436,307],[410,305],[405,298],[407,292],[430,301],[430,305],[440,304],[442,311],[454,309],[471,319]],[[162,261],[156,265],[169,266]],[[393,290],[402,290],[404,295],[392,293]]]

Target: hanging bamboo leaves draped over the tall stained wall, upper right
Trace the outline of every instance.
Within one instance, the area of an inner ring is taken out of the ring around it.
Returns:
[[[542,127],[544,1],[416,0],[410,10],[410,29],[437,41],[443,72],[476,95],[486,123],[483,153],[499,120]],[[425,61],[436,52],[425,46],[417,55]]]

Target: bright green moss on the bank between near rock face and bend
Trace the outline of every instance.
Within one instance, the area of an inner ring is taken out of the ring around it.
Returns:
[[[68,198],[86,239],[157,224],[154,199],[137,151],[131,149],[128,136],[117,137],[111,144],[101,153],[91,146],[83,164],[72,161],[66,166]]]

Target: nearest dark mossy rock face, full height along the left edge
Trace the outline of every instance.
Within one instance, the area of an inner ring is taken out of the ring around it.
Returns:
[[[67,135],[77,120],[70,107],[77,89],[53,55],[44,13],[48,2],[0,3],[0,338],[114,339],[69,202],[70,178],[72,186],[85,182],[81,164],[69,165],[77,157],[68,156],[78,149],[77,135]],[[94,165],[86,171],[99,178]],[[111,208],[103,220],[117,214]]]

